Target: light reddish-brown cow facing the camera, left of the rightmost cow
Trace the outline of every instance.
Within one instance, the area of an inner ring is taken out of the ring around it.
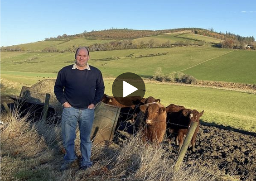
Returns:
[[[155,102],[140,105],[140,113],[135,123],[141,129],[141,138],[144,143],[159,145],[166,132],[166,108]]]

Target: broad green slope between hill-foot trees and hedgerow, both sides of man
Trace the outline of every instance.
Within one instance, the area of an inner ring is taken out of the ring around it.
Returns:
[[[164,55],[161,55],[164,53]],[[154,57],[150,54],[160,54]],[[133,72],[153,76],[161,67],[163,74],[181,71],[198,80],[229,81],[256,84],[256,52],[212,47],[147,48],[91,52],[89,64],[98,67],[103,76],[116,77]],[[103,58],[119,58],[99,61]],[[72,64],[74,53],[1,52],[1,74],[15,72],[57,73]],[[10,74],[10,73],[9,73]]]

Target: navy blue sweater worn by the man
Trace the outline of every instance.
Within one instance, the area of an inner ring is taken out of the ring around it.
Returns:
[[[72,107],[85,110],[88,105],[96,105],[104,94],[102,74],[96,67],[91,70],[72,69],[73,65],[63,67],[54,86],[54,94],[63,105],[68,101]]]

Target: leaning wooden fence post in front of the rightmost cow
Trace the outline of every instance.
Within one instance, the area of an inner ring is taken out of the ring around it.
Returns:
[[[174,172],[179,171],[179,168],[183,162],[183,159],[185,157],[185,154],[188,150],[188,146],[191,142],[191,139],[193,137],[193,134],[195,133],[195,130],[197,128],[198,123],[197,122],[192,122],[190,129],[188,130],[188,135],[186,136],[184,143],[180,149],[179,155],[178,155],[178,159],[174,165]]]

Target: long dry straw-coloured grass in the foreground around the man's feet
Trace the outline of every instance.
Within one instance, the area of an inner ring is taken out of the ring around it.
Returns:
[[[19,107],[19,106],[17,106]],[[1,179],[5,181],[216,181],[235,179],[214,168],[185,163],[174,173],[175,158],[163,148],[145,146],[139,136],[129,137],[117,145],[93,145],[93,167],[78,171],[74,162],[67,171],[59,171],[63,157],[60,125],[29,120],[18,108],[11,115],[2,112]],[[76,152],[78,158],[79,133]]]

